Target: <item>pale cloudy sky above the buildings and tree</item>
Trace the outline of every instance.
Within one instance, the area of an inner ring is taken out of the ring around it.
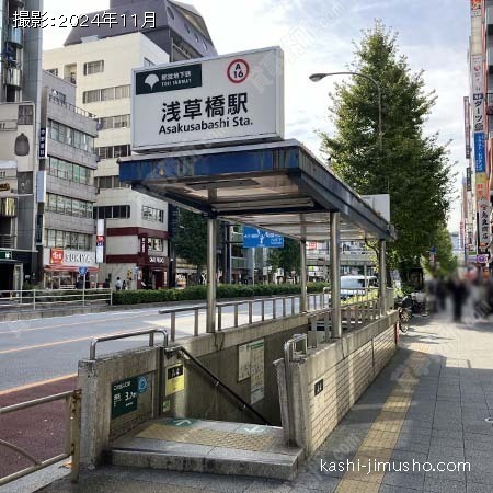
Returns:
[[[427,134],[449,142],[457,177],[449,229],[460,221],[459,184],[466,171],[463,96],[469,94],[467,50],[470,34],[466,0],[187,0],[204,15],[220,55],[280,46],[285,51],[286,138],[296,138],[320,156],[317,130],[333,133],[330,100],[337,78],[319,83],[308,76],[346,70],[354,58],[353,42],[376,19],[399,33],[400,53],[412,70],[424,70],[426,92],[437,102],[426,123]],[[104,0],[45,0],[49,18],[103,10]],[[69,30],[46,27],[44,49],[62,46]],[[339,79],[341,81],[341,79]],[[402,193],[406,193],[405,190]]]

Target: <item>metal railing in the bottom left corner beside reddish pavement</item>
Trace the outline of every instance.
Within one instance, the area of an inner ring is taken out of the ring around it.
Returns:
[[[79,462],[80,462],[80,425],[81,425],[81,414],[80,414],[80,400],[81,390],[76,389],[68,392],[56,393],[54,395],[47,395],[41,399],[34,399],[27,402],[21,402],[19,404],[8,405],[7,408],[0,408],[0,416],[3,416],[15,411],[21,411],[30,408],[35,408],[37,405],[46,404],[48,402],[65,400],[65,446],[64,452],[49,459],[39,460],[34,457],[31,452],[19,447],[10,442],[0,439],[0,446],[7,447],[14,452],[25,457],[33,462],[33,466],[25,468],[21,471],[14,472],[12,474],[0,478],[0,486],[15,481],[24,475],[31,474],[32,472],[38,471],[39,469],[47,468],[60,460],[72,458],[70,479],[72,482],[79,480]]]

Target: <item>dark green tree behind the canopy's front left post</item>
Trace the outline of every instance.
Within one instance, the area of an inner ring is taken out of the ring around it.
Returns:
[[[207,219],[186,209],[180,210],[180,227],[174,239],[175,254],[197,266],[197,276],[207,265]]]

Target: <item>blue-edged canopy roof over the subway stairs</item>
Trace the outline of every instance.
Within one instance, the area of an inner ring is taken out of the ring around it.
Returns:
[[[119,180],[195,211],[307,241],[394,239],[393,227],[297,140],[122,158]]]

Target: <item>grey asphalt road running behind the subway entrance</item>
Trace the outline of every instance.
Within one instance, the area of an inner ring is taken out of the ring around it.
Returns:
[[[191,303],[194,306],[195,303]],[[167,307],[171,308],[171,307]],[[183,308],[183,306],[181,307]],[[298,302],[295,303],[298,311]],[[282,316],[280,300],[276,305]],[[287,301],[290,313],[290,301]],[[265,303],[265,318],[272,317],[272,302]],[[253,309],[253,320],[261,319],[261,307]],[[239,323],[248,323],[248,306],[239,312]],[[233,325],[233,308],[223,308],[222,328]],[[90,342],[95,336],[162,328],[170,332],[170,317],[158,313],[157,308],[77,314],[53,319],[0,323],[0,391],[14,390],[34,382],[74,375],[78,362],[89,356]],[[193,335],[193,312],[176,316],[176,339]],[[199,332],[205,332],[205,310],[199,318]],[[160,335],[157,335],[157,340]],[[147,345],[148,336],[104,342],[98,354],[112,353]]]

